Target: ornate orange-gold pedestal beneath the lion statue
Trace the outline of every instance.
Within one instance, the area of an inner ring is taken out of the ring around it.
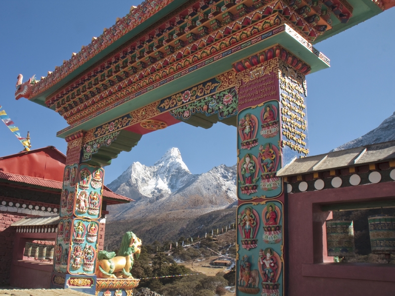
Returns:
[[[140,283],[139,279],[110,278],[96,279],[97,296],[132,296],[133,288]]]

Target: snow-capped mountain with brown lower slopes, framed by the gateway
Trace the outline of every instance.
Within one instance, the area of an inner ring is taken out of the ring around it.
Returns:
[[[177,239],[188,235],[185,231],[196,231],[196,221],[201,221],[202,215],[211,217],[213,211],[213,219],[204,218],[208,225],[224,213],[234,222],[236,171],[236,165],[220,165],[193,175],[177,148],[168,150],[154,166],[133,163],[108,185],[136,202],[108,207],[106,244],[118,240],[127,230],[148,243]]]

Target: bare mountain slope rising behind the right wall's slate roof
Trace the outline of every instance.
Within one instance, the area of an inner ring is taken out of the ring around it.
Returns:
[[[353,141],[343,144],[332,151],[356,148],[395,140],[395,112],[386,118],[378,127]]]

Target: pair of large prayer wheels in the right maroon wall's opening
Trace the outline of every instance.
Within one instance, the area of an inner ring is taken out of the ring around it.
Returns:
[[[368,223],[372,254],[395,254],[395,216],[369,216]],[[326,221],[326,246],[328,256],[354,257],[353,221]]]

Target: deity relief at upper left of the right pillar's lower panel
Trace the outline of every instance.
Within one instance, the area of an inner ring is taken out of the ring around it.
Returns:
[[[259,230],[258,212],[247,206],[237,215],[238,231],[241,234],[241,247],[253,249],[257,247],[256,235]]]

